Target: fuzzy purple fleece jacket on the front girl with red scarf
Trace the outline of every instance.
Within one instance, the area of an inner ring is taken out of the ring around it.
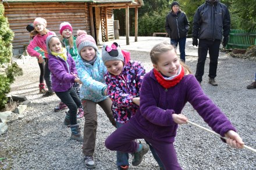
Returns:
[[[236,131],[225,114],[204,94],[194,75],[185,75],[179,84],[165,89],[157,82],[152,70],[143,78],[140,111],[137,111],[130,123],[137,126],[145,136],[174,142],[177,124],[172,120],[172,114],[182,113],[187,102],[221,136],[229,130]]]

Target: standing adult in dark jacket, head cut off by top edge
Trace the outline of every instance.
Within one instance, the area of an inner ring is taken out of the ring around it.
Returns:
[[[193,20],[193,46],[198,45],[198,62],[195,78],[202,81],[204,75],[204,65],[209,50],[209,84],[217,86],[215,81],[219,46],[221,45],[222,35],[223,46],[227,45],[230,32],[230,15],[227,6],[219,0],[206,0],[195,12]],[[199,44],[198,40],[199,39]]]

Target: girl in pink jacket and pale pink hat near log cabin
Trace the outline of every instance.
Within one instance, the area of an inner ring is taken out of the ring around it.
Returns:
[[[44,59],[40,53],[37,52],[34,48],[37,46],[44,50],[45,66],[44,66],[44,79],[47,85],[48,91],[42,95],[43,97],[48,97],[54,95],[55,93],[52,91],[52,80],[51,80],[51,71],[48,68],[48,53],[46,46],[46,39],[49,35],[56,35],[55,32],[47,30],[47,21],[41,17],[37,17],[34,20],[35,30],[30,32],[30,37],[34,37],[30,44],[27,46],[27,52],[30,56],[35,56],[38,59],[38,63],[43,63]]]

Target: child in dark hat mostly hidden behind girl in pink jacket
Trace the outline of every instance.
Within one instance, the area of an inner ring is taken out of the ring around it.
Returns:
[[[35,30],[34,28],[34,24],[28,24],[26,27],[27,31],[32,32]],[[35,36],[35,35],[34,35]],[[30,41],[34,38],[30,37]],[[30,42],[29,41],[29,42]],[[45,56],[44,56],[44,50],[42,50],[41,48],[39,48],[38,46],[34,48],[34,50],[36,50],[38,53],[40,53],[42,55],[42,59],[44,59],[44,61],[42,63],[39,63],[38,61],[38,66],[40,68],[40,77],[39,77],[39,93],[46,93],[48,91],[47,88],[45,88],[45,84],[44,84],[44,65],[45,65]],[[37,59],[38,60],[38,59]]]

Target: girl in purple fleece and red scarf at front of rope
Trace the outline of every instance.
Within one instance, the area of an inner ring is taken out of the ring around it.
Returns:
[[[145,139],[157,151],[165,169],[182,169],[173,142],[178,124],[186,124],[182,109],[189,102],[205,122],[234,148],[243,148],[243,140],[225,114],[201,89],[189,68],[179,62],[175,49],[165,42],[150,52],[154,68],[145,74],[140,90],[140,110],[106,140],[110,150],[134,153],[140,162],[148,148],[135,139]]]

